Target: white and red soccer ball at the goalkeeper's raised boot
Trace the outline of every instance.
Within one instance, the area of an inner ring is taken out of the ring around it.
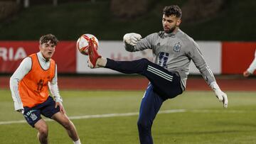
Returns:
[[[99,41],[95,37],[95,35],[92,34],[83,34],[78,38],[76,47],[80,51],[82,55],[88,55],[88,48],[89,48],[89,40],[92,39],[92,43],[94,44],[96,50],[99,46]]]

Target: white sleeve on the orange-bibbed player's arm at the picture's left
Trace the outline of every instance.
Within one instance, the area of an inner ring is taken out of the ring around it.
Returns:
[[[25,77],[26,74],[31,70],[32,60],[31,57],[26,57],[21,64],[18,66],[14,74],[10,78],[10,90],[11,97],[14,100],[15,111],[23,109],[23,104],[21,101],[21,96],[18,92],[18,82]]]

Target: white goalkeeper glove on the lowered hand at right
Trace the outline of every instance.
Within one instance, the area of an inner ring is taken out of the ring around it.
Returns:
[[[224,108],[228,107],[228,96],[224,92],[220,90],[220,87],[218,87],[218,84],[216,82],[212,82],[210,84],[210,87],[213,89],[215,96],[217,97],[218,101],[223,102]]]

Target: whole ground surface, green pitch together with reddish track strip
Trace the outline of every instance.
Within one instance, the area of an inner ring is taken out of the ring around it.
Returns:
[[[256,79],[217,76],[228,109],[202,77],[188,78],[186,92],[169,99],[152,127],[154,143],[256,143]],[[137,118],[148,81],[139,76],[58,77],[60,95],[82,143],[139,143]],[[65,130],[45,118],[50,143],[72,143]],[[38,143],[36,130],[14,111],[9,77],[0,77],[0,143]]]

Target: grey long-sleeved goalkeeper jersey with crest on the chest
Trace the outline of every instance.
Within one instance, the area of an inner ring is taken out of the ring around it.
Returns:
[[[125,44],[124,47],[129,52],[151,49],[156,64],[166,68],[169,72],[178,72],[183,90],[186,88],[186,79],[189,74],[188,66],[191,60],[193,60],[208,85],[215,82],[213,72],[206,64],[198,44],[180,29],[175,34],[164,33],[164,31],[152,33],[139,40],[137,45]]]

